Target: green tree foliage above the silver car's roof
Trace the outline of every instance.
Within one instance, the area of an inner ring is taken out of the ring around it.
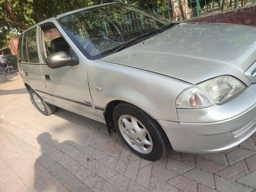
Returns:
[[[0,46],[42,20],[75,9],[111,2],[132,3],[146,10],[166,0],[0,0]],[[8,7],[9,5],[9,7]]]

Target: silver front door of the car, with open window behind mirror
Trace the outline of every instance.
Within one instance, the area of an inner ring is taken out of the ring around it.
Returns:
[[[62,36],[54,24],[42,25],[39,28],[40,50],[42,55],[41,70],[44,82],[47,86],[47,102],[60,106],[92,119],[100,120],[99,113],[93,106],[92,97],[89,91],[89,85],[86,74],[86,58],[74,46],[68,44],[70,52],[74,51],[79,58],[79,64],[76,66],[65,66],[56,69],[49,68],[46,64],[46,58],[56,51],[52,46],[52,41],[62,39],[66,43],[68,36]],[[65,35],[65,34],[64,34]],[[65,42],[62,42],[65,44]],[[72,43],[72,42],[71,42]],[[60,47],[63,44],[60,43]],[[59,45],[56,45],[59,46]],[[60,51],[61,49],[59,49]],[[64,50],[61,50],[64,51]]]

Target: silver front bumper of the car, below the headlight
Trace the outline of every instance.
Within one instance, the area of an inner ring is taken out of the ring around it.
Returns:
[[[228,150],[256,131],[256,84],[251,84],[226,104],[198,110],[177,109],[177,114],[180,122],[157,120],[175,151],[218,153]]]

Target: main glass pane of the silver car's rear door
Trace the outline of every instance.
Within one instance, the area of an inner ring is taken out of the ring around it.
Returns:
[[[36,47],[36,28],[28,31],[27,34],[27,51],[29,63],[39,63]]]

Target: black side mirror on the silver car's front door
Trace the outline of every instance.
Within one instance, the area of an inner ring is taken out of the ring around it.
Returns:
[[[68,54],[65,51],[52,53],[46,58],[46,64],[49,68],[56,69],[64,66],[78,65],[78,57],[73,54]]]

